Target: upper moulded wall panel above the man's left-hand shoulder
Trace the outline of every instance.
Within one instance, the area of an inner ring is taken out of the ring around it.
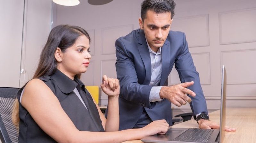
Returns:
[[[133,30],[133,25],[123,25],[102,29],[102,53],[115,54],[115,41],[121,36],[125,36]]]

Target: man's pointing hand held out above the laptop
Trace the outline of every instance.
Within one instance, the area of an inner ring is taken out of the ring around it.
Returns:
[[[193,85],[194,82],[184,82],[173,86],[163,86],[159,92],[160,98],[166,98],[176,106],[185,105],[187,102],[191,102],[191,98],[187,96],[195,97],[195,93],[186,87]]]

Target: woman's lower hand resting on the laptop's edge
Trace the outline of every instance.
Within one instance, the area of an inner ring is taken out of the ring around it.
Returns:
[[[146,133],[146,136],[151,136],[154,134],[165,134],[169,129],[169,124],[165,119],[156,120],[141,128],[143,132]]]

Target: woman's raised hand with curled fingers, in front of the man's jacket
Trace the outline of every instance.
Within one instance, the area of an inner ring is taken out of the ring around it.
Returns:
[[[119,80],[116,78],[109,78],[106,75],[102,77],[101,88],[108,97],[118,97],[120,93]]]

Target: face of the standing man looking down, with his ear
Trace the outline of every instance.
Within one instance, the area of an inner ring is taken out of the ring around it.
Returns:
[[[152,10],[146,12],[144,22],[139,18],[140,29],[144,30],[145,37],[153,51],[163,46],[171,25],[171,13],[155,13]]]

